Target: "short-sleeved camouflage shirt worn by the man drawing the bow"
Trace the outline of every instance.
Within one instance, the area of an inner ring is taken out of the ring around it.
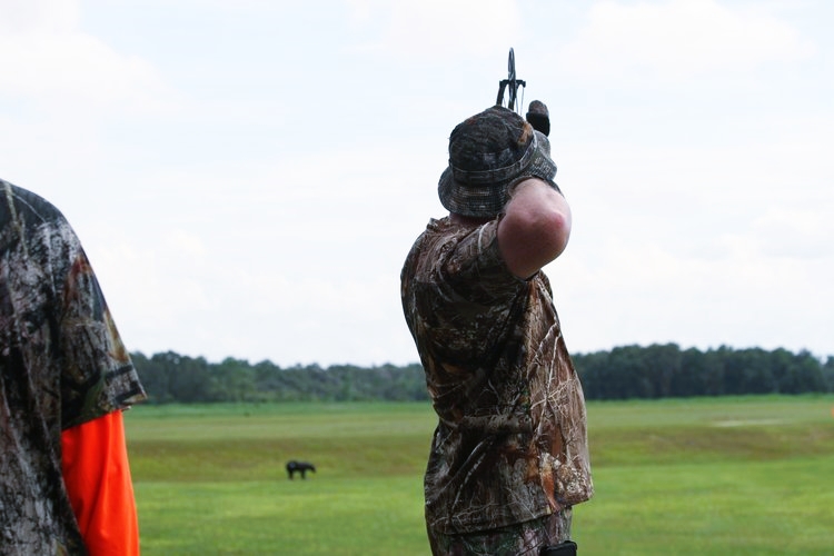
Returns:
[[[579,379],[543,272],[513,276],[499,219],[431,220],[401,274],[403,308],[439,423],[426,520],[446,534],[513,525],[593,494]]]

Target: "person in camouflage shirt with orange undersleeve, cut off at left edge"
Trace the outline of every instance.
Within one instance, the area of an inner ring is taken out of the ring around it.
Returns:
[[[61,212],[0,196],[0,554],[137,555],[122,410],[145,390]]]

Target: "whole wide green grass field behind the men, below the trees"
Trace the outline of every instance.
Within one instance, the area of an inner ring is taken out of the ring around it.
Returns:
[[[834,554],[834,396],[589,403],[589,555]],[[142,554],[426,555],[426,404],[140,406]],[[288,480],[288,459],[318,473]]]

